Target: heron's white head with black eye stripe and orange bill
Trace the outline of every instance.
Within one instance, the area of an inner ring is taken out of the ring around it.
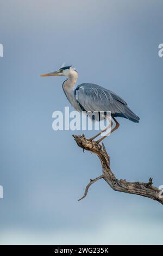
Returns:
[[[77,75],[78,72],[73,68],[73,66],[63,66],[62,68],[60,68],[57,71],[54,72],[50,72],[47,74],[43,74],[41,76],[67,76],[67,77],[71,77],[74,75]]]

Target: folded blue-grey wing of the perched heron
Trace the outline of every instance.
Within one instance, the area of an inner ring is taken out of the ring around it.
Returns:
[[[80,84],[75,90],[76,100],[85,111],[123,113],[127,103],[120,96],[92,83]]]

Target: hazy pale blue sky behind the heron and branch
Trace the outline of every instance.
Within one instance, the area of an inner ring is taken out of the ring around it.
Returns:
[[[52,130],[53,111],[70,104],[63,78],[40,77],[65,62],[79,72],[77,84],[122,96],[140,123],[118,119],[120,129],[105,140],[112,171],[162,185],[162,5],[1,0],[0,243],[162,243],[162,205],[153,200],[99,180],[77,201],[101,164],[82,153],[72,131]]]

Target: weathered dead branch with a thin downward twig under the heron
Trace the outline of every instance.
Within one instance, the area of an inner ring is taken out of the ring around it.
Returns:
[[[93,154],[96,154],[99,159],[101,160],[102,164],[102,172],[103,174],[93,180],[90,180],[89,184],[85,188],[85,193],[82,198],[79,200],[82,200],[84,197],[86,197],[87,192],[89,190],[89,187],[96,182],[99,179],[104,179],[109,186],[115,190],[120,191],[124,193],[129,194],[139,194],[143,197],[148,197],[153,200],[158,201],[159,203],[163,204],[163,198],[160,196],[160,190],[157,187],[152,186],[152,178],[149,178],[149,182],[129,182],[126,180],[118,180],[114,173],[111,172],[110,169],[110,157],[108,153],[106,152],[106,149],[104,147],[104,144],[102,143],[102,146],[95,141],[89,141],[85,138],[85,136],[76,136],[73,135],[76,143],[80,148],[83,150],[90,151]]]

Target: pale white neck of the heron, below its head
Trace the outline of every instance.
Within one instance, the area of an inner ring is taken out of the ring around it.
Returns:
[[[78,102],[76,101],[76,98],[74,96],[74,85],[76,84],[77,79],[78,79],[78,73],[76,71],[71,72],[71,74],[68,76],[68,79],[62,84],[62,88],[66,94],[68,101],[70,101],[71,105],[75,109],[80,110]]]

